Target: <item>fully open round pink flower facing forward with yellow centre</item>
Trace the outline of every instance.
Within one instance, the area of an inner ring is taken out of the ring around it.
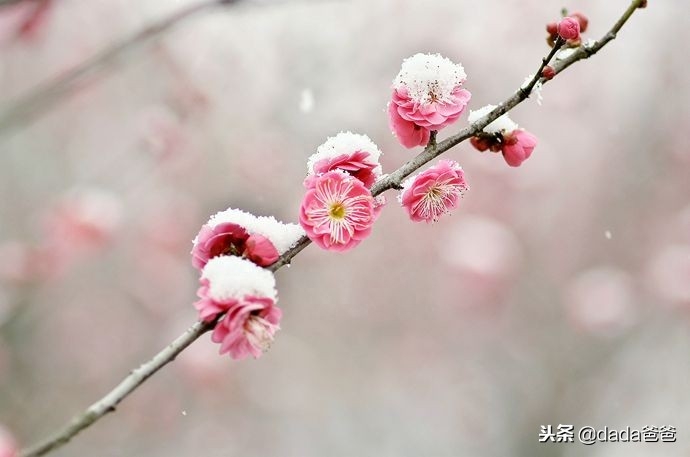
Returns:
[[[323,249],[346,251],[369,236],[376,202],[361,181],[330,171],[308,186],[299,221],[309,239]]]

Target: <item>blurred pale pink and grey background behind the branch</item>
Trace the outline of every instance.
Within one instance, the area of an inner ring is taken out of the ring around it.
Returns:
[[[418,152],[384,111],[403,58],[461,62],[477,109],[536,70],[561,7],[598,38],[628,2],[247,0],[15,109],[189,4],[0,7],[5,442],[43,439],[195,321],[210,214],[295,222],[306,159],[340,130],[369,135],[386,172]],[[540,140],[522,167],[450,151],[471,186],[451,216],[414,224],[389,192],[358,249],[307,248],[277,274],[264,357],[219,357],[206,335],[52,455],[689,456],[687,12],[650,1],[515,109]],[[546,424],[678,439],[540,444]]]

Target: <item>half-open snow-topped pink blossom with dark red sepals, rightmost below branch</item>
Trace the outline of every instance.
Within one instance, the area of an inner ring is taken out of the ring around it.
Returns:
[[[470,111],[467,120],[472,124],[489,114],[495,105],[486,105],[476,111]],[[478,151],[484,152],[487,149],[492,152],[501,152],[506,163],[511,167],[519,167],[522,162],[527,160],[537,145],[537,137],[518,125],[503,114],[484,130],[472,137],[470,143]]]

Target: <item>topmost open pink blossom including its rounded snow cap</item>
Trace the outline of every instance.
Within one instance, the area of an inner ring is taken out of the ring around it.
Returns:
[[[462,88],[466,78],[462,65],[440,54],[418,53],[403,61],[388,106],[390,126],[403,146],[424,144],[428,131],[460,117],[471,98]]]

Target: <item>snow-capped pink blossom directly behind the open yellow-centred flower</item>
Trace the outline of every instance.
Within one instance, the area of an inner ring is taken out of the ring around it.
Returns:
[[[329,137],[309,157],[307,179],[321,173],[341,170],[362,181],[366,187],[371,187],[381,176],[379,157],[381,151],[368,136],[340,132]]]

